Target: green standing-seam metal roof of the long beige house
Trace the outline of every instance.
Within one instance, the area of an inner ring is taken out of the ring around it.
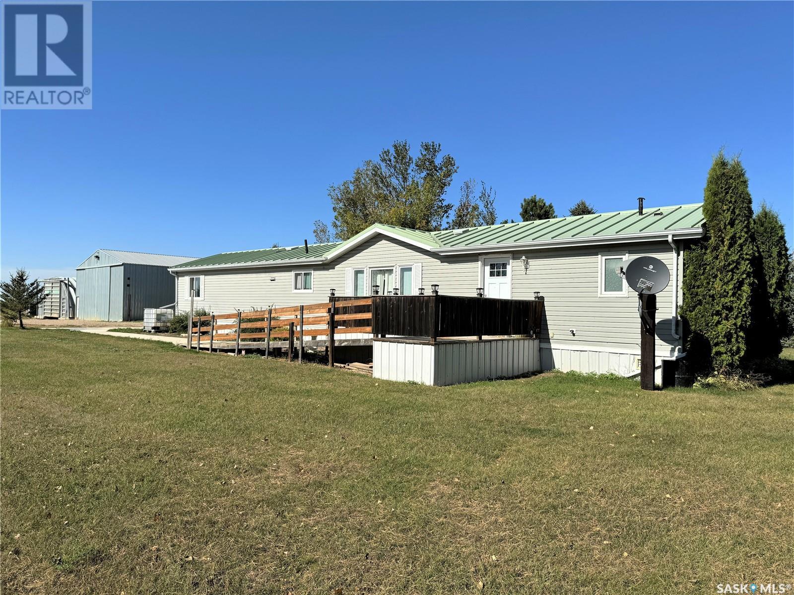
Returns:
[[[665,206],[645,209],[639,215],[636,209],[616,213],[595,213],[576,217],[560,217],[541,221],[522,221],[503,225],[465,229],[444,229],[439,232],[420,232],[395,225],[375,224],[344,242],[310,244],[291,248],[268,248],[222,252],[206,258],[181,263],[173,269],[197,267],[250,267],[258,264],[299,263],[302,260],[322,262],[353,248],[376,233],[397,237],[410,244],[421,245],[430,251],[467,251],[479,246],[499,248],[499,245],[565,244],[565,240],[614,239],[616,236],[661,235],[703,225],[703,205]],[[329,258],[330,257],[330,258]]]

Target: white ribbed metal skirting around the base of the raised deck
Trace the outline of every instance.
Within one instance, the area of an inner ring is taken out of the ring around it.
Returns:
[[[540,369],[540,341],[534,339],[372,340],[372,376],[384,380],[447,386]]]

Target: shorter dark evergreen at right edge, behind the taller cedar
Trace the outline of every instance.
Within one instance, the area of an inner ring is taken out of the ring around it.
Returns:
[[[792,308],[792,281],[789,277],[791,256],[786,243],[786,232],[780,217],[761,203],[753,218],[753,231],[761,260],[760,281],[769,298],[769,315],[779,339],[794,332],[788,320]]]

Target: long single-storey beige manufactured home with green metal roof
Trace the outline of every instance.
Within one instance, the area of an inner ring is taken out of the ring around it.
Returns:
[[[337,295],[441,294],[544,300],[542,368],[635,374],[638,300],[616,271],[640,255],[671,273],[657,295],[657,366],[680,359],[676,316],[683,251],[703,236],[700,204],[596,213],[479,228],[420,232],[372,225],[349,240],[291,248],[224,252],[181,263],[176,308],[213,313],[325,301]]]

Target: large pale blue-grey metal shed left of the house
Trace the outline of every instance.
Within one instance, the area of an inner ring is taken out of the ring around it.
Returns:
[[[175,300],[168,267],[194,260],[100,249],[77,266],[77,317],[87,321],[140,321],[144,308]]]

